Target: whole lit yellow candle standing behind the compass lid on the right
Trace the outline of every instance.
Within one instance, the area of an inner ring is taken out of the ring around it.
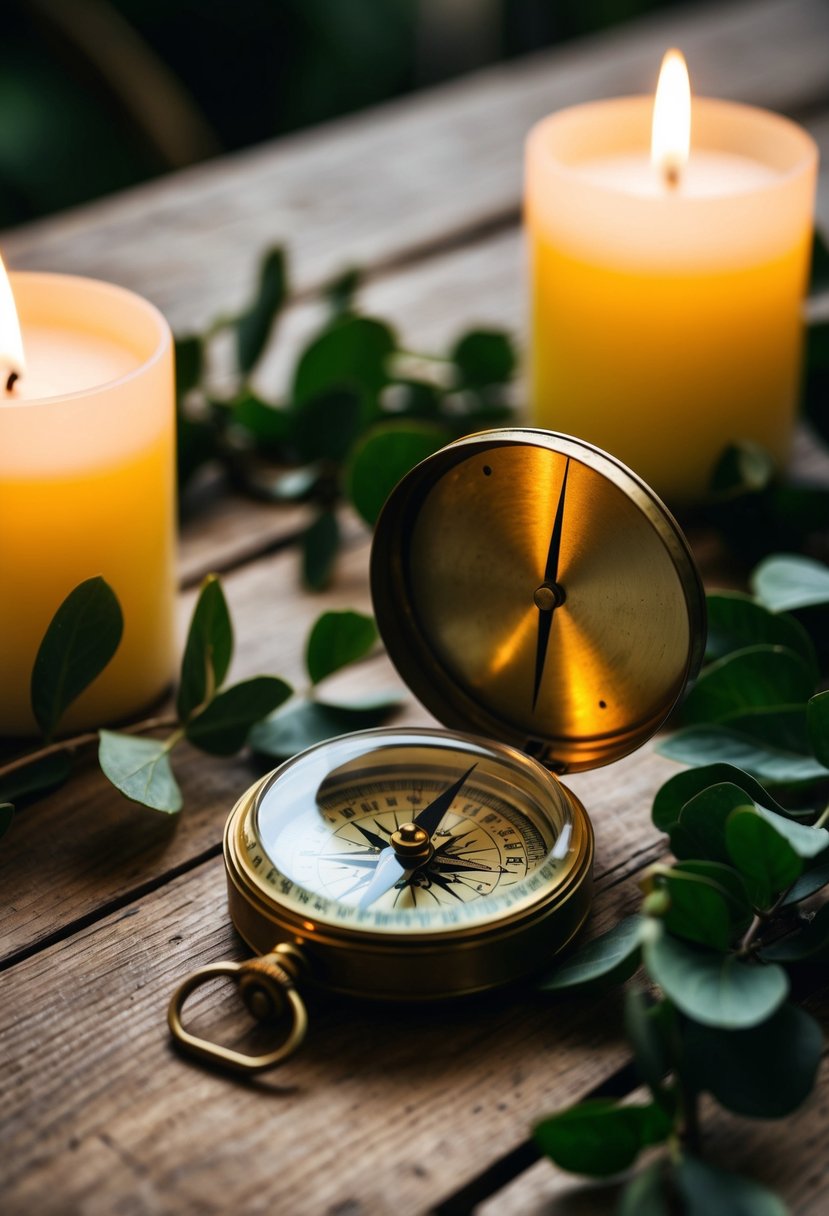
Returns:
[[[672,503],[733,441],[786,461],[817,175],[786,119],[707,98],[692,119],[687,79],[669,52],[655,107],[562,111],[526,156],[535,421]]]

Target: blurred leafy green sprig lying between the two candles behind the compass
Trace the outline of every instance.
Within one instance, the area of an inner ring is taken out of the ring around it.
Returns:
[[[419,460],[511,416],[517,359],[504,333],[473,330],[445,356],[412,355],[388,322],[359,311],[359,287],[357,271],[328,286],[328,316],[300,350],[280,399],[252,377],[289,294],[282,249],[266,255],[241,316],[176,340],[181,488],[202,466],[218,463],[258,499],[309,502],[314,519],[301,536],[303,575],[312,589],[332,575],[339,502],[349,501],[373,524],[388,492]],[[219,384],[210,356],[227,334],[233,368]]]

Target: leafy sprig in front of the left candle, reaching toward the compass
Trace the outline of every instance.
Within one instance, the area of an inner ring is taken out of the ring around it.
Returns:
[[[399,704],[396,694],[356,704],[318,699],[317,686],[363,658],[377,641],[373,620],[356,612],[323,613],[305,654],[310,686],[295,692],[280,676],[226,683],[233,626],[221,587],[209,575],[193,609],[181,660],[175,713],[130,724],[120,731],[89,731],[56,739],[67,709],[101,675],[117,652],[123,629],[118,599],[102,578],[75,587],[50,623],[32,672],[32,708],[43,734],[34,751],[0,765],[0,835],[16,809],[61,786],[72,758],[97,745],[102,773],[128,799],[170,815],[182,806],[171,755],[190,743],[227,756],[253,741],[265,756],[286,759],[312,743],[359,726],[377,726]],[[158,737],[160,736],[160,737]]]

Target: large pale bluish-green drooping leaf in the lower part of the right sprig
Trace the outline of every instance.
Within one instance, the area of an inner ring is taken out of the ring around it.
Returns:
[[[645,941],[644,962],[665,996],[705,1026],[756,1026],[774,1013],[789,991],[782,967],[744,963],[733,955],[687,946],[669,933]]]

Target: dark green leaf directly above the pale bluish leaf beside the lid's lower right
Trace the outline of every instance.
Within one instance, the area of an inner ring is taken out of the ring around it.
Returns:
[[[705,668],[682,706],[687,724],[718,722],[760,705],[793,705],[814,692],[814,670],[783,646],[750,646]]]

